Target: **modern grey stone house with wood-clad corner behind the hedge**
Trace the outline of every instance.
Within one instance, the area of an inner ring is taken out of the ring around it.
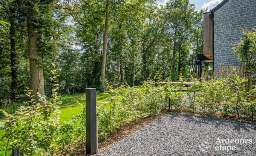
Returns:
[[[256,0],[224,0],[204,13],[204,54],[198,55],[198,76],[218,72],[220,66],[239,66],[231,52],[242,29],[256,26]]]

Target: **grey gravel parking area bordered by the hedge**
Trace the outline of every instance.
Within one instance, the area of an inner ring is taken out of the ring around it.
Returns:
[[[228,143],[228,138],[230,142],[232,139],[243,139],[245,142],[235,140],[239,143],[231,144]],[[219,144],[222,139],[227,140]],[[252,142],[247,139],[251,139]],[[226,148],[226,150],[217,151],[220,146],[221,149]],[[227,149],[232,147],[235,150],[227,152]],[[97,154],[97,156],[164,155],[256,156],[256,123],[170,114]]]

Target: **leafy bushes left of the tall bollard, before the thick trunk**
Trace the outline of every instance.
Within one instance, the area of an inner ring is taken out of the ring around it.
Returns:
[[[31,96],[31,90],[27,88],[30,106],[21,106],[14,114],[1,110],[7,118],[0,123],[1,129],[5,131],[1,138],[5,155],[14,147],[18,147],[20,153],[26,156],[33,153],[53,155],[65,152],[80,136],[80,127],[74,128],[74,122],[79,116],[62,125],[59,123],[59,85],[56,84],[59,75],[55,75],[56,72],[56,69],[52,70],[53,89],[49,100],[38,93],[40,102],[36,102],[32,98],[34,95]]]

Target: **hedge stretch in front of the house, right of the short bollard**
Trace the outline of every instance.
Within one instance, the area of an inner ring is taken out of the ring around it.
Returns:
[[[246,88],[247,78],[239,77],[235,69],[226,78],[212,78],[209,81],[193,81],[187,92],[179,92],[183,87],[182,78],[171,90],[170,103],[177,110],[200,111],[203,114],[252,115],[255,113],[255,90],[253,101]],[[178,90],[177,90],[178,89]]]

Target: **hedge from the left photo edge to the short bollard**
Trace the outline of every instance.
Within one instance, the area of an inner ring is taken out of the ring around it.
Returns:
[[[1,110],[7,117],[6,122],[1,122],[1,129],[5,131],[1,138],[4,153],[14,147],[20,153],[28,156],[33,153],[42,155],[63,154],[71,151],[78,142],[84,141],[86,135],[86,108],[70,121],[59,123],[58,84],[55,80],[58,75],[53,71],[53,89],[49,100],[41,96],[39,101],[33,99],[31,90],[26,90],[30,98],[29,106],[21,106],[14,114]],[[166,108],[166,86],[155,87],[153,80],[144,82],[141,87],[121,86],[113,88],[107,85],[110,93],[108,103],[97,107],[99,122],[99,137],[113,133],[118,127],[132,119],[139,119],[149,115],[156,115],[161,109]],[[79,121],[75,128],[74,123]]]

